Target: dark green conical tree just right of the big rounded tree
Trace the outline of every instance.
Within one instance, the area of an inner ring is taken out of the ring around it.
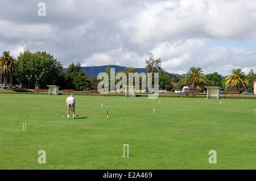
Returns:
[[[84,71],[82,71],[82,67],[79,63],[69,65],[68,69],[65,71],[65,82],[66,87],[69,89],[75,89],[77,91],[92,89],[92,84],[88,77],[86,77]]]

